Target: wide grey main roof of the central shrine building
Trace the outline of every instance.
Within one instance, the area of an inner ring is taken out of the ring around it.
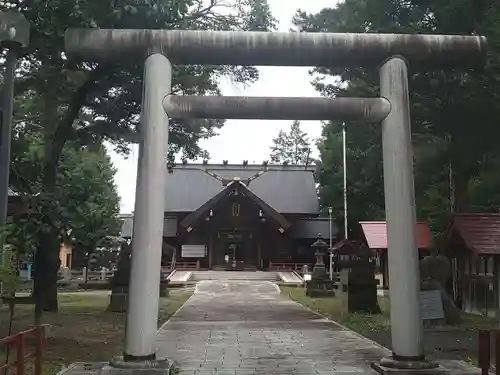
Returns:
[[[248,178],[262,170],[261,165],[186,164],[172,168],[167,175],[165,212],[193,212],[220,193],[224,186],[204,169],[221,177]],[[319,212],[314,167],[269,165],[267,172],[248,186],[249,190],[279,213]]]

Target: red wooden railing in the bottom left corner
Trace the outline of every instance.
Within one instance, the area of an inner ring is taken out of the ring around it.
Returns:
[[[26,336],[35,336],[35,351],[26,353]],[[26,331],[16,333],[0,339],[0,349],[9,353],[13,349],[14,361],[6,364],[0,364],[0,374],[9,374],[9,369],[15,368],[16,375],[24,375],[24,365],[27,359],[33,359],[35,363],[34,375],[42,374],[43,360],[43,336],[44,327],[36,326]],[[8,357],[6,357],[8,360]]]

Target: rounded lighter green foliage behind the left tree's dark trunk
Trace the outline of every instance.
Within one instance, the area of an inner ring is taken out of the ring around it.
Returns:
[[[38,171],[42,142],[36,136],[18,133],[13,139],[11,186],[21,192],[25,204],[34,213],[11,218],[15,231],[9,243],[19,248],[31,248],[35,243],[37,225],[40,225],[42,207],[50,207],[54,224],[61,234],[71,233],[77,249],[93,251],[103,238],[120,231],[119,196],[114,184],[116,173],[103,145],[76,147],[68,143],[62,151],[56,188],[50,195],[42,194],[43,186]],[[50,196],[50,201],[42,201]],[[30,239],[20,246],[19,241]]]

